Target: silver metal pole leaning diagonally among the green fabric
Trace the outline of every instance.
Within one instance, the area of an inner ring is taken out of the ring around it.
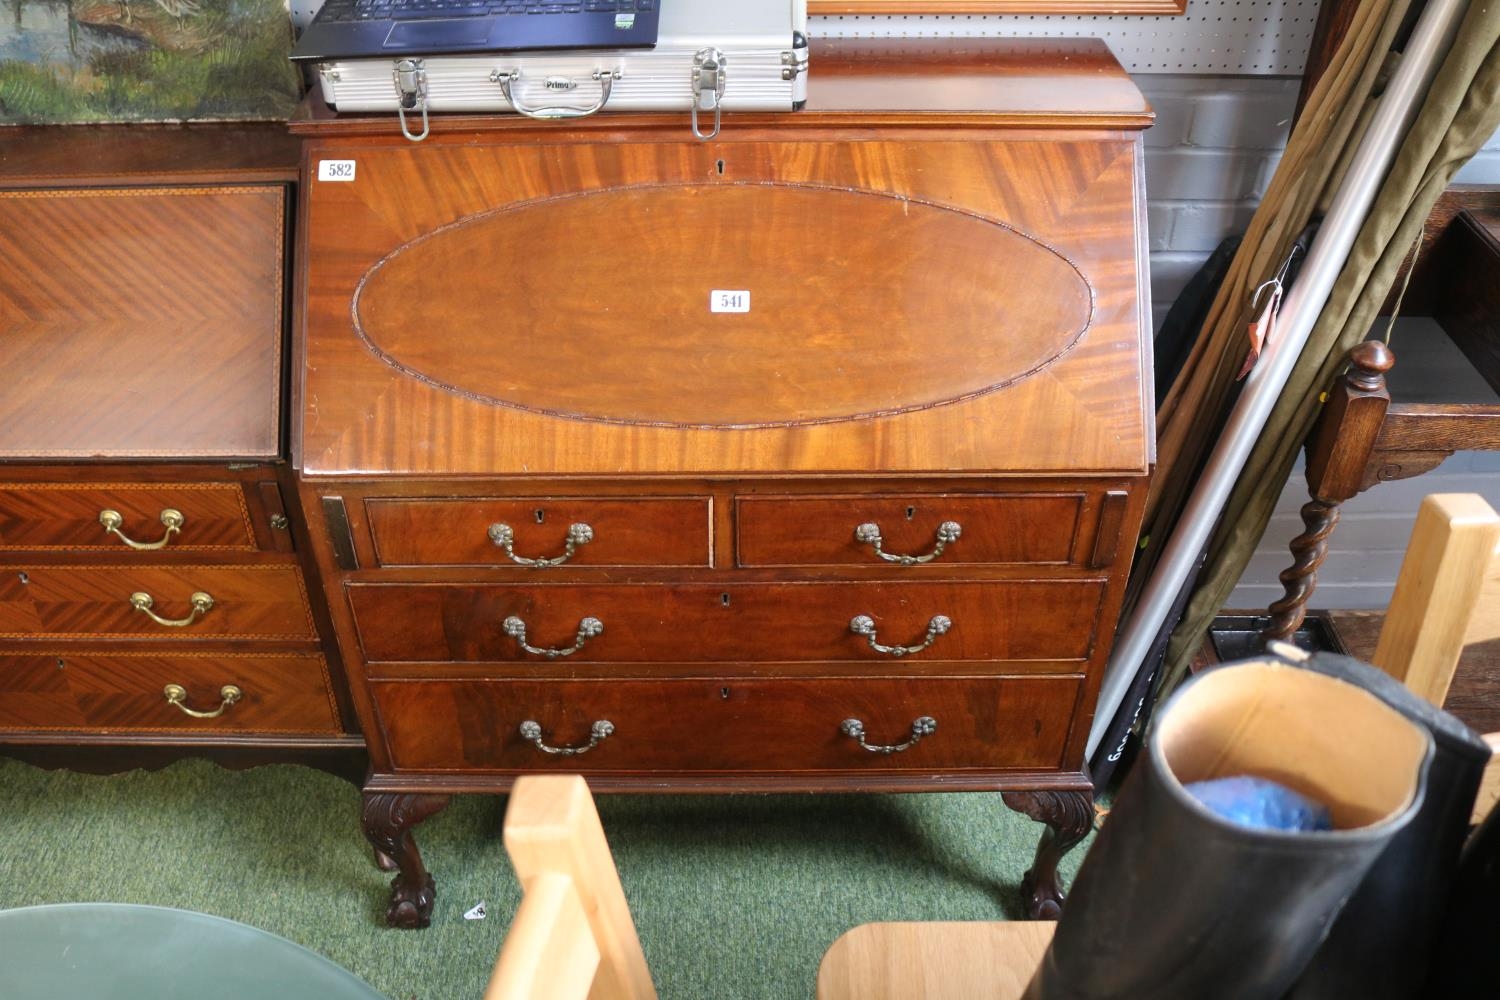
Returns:
[[[1245,468],[1245,460],[1266,426],[1272,408],[1286,388],[1292,369],[1317,324],[1328,297],[1334,291],[1354,237],[1365,223],[1371,204],[1386,172],[1395,159],[1396,148],[1416,118],[1422,99],[1437,75],[1442,57],[1448,52],[1458,30],[1467,0],[1428,0],[1407,42],[1396,72],[1376,108],[1370,129],[1365,132],[1354,160],[1342,186],[1318,228],[1312,247],[1308,250],[1302,273],[1292,285],[1276,322],[1275,342],[1268,346],[1256,364],[1220,435],[1214,454],[1198,477],[1182,510],[1172,537],[1162,549],[1146,588],[1142,591],[1136,610],[1120,630],[1104,670],[1104,685],[1094,712],[1089,730],[1088,757],[1098,750],[1110,720],[1119,711],[1131,679],[1142,667],[1150,648],[1150,640],[1161,628],[1172,607],[1172,600],[1182,588],[1186,574],[1215,522],[1224,511],[1224,504]]]

